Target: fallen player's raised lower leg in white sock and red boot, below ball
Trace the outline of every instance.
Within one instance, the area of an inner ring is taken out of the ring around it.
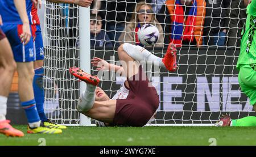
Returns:
[[[141,46],[135,46],[131,44],[122,44],[118,48],[118,54],[124,50],[133,60],[136,61],[146,61],[152,62],[154,65],[164,67],[169,71],[176,71],[177,70],[177,61],[176,61],[176,46],[173,43],[168,45],[168,49],[164,58],[160,58],[149,52],[148,50],[142,48]],[[121,55],[119,55],[121,56]],[[120,59],[122,60],[122,59]]]

